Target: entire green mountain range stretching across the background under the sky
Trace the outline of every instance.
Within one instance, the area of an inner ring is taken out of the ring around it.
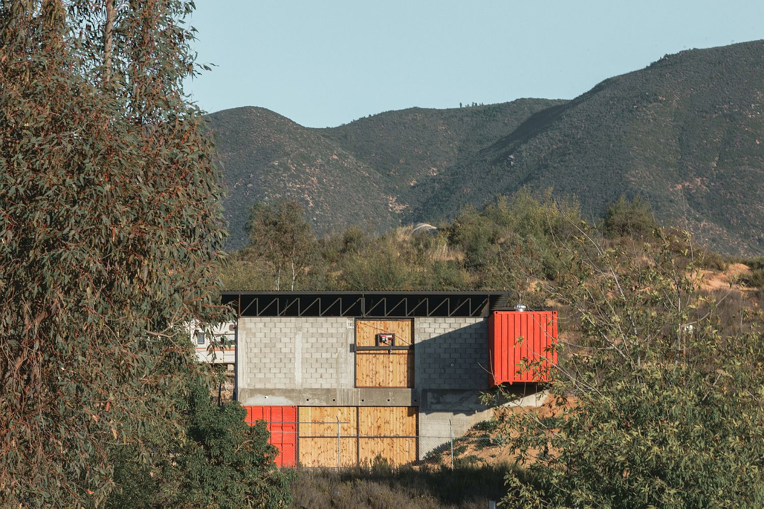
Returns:
[[[575,194],[598,217],[643,195],[723,253],[764,253],[764,41],[665,56],[572,101],[410,108],[313,129],[263,108],[209,115],[229,248],[248,206],[281,196],[319,233],[452,217],[517,189]]]

